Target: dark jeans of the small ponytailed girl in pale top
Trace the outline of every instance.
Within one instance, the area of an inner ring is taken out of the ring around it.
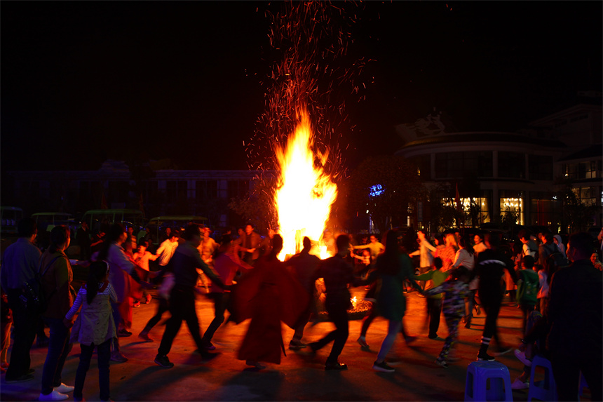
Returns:
[[[86,373],[90,368],[90,360],[94,351],[95,344],[90,346],[80,344],[81,354],[79,355],[79,365],[76,371],[74,399],[83,398],[83,383],[86,381]],[[98,354],[98,387],[100,388],[100,400],[109,401],[109,359],[111,358],[111,340],[106,340],[96,347]]]

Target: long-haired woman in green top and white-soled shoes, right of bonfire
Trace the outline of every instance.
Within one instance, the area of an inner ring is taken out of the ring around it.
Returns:
[[[404,282],[409,281],[419,292],[421,287],[414,281],[412,261],[405,253],[400,253],[398,246],[398,232],[390,230],[386,234],[385,252],[377,257],[377,269],[374,276],[381,282],[377,295],[377,306],[381,316],[389,320],[388,332],[381,343],[381,349],[373,369],[384,373],[393,373],[394,369],[386,361],[386,355],[393,346],[395,337],[402,329],[402,318],[406,311],[406,297],[404,295]]]

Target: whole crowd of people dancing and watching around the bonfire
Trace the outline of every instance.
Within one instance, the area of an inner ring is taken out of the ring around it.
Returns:
[[[320,242],[305,237],[299,253],[282,257],[282,237],[269,230],[262,238],[252,225],[239,228],[238,236],[227,233],[212,239],[208,227],[191,223],[182,230],[165,232],[151,253],[155,239],[149,232],[135,236],[132,228],[116,223],[102,236],[91,238],[83,223],[87,241],[78,239],[82,250],[77,264],[88,269],[88,279],[76,292],[74,261],[66,254],[71,242],[69,228],[54,227],[43,253],[34,245],[34,220],[24,218],[18,229],[20,237],[6,248],[0,269],[0,359],[7,383],[32,380],[29,351],[43,320],[50,337],[40,401],[62,401],[69,392],[75,401],[82,401],[95,349],[100,400],[109,400],[109,361],[128,360],[119,340],[133,335],[132,309],[151,302],[151,289],[157,289],[156,314],[138,337],[154,342],[151,328],[169,312],[154,359],[158,366],[174,366],[168,354],[182,321],[187,323],[201,361],[214,359],[212,338],[229,311],[228,320],[233,323],[250,319],[236,354],[246,365],[262,370],[265,363],[280,363],[285,348],[283,322],[294,330],[289,349],[316,354],[332,342],[325,370],[345,370],[346,363],[339,361],[339,356],[349,336],[350,288],[357,286],[365,286],[365,300],[370,302],[358,337],[360,347],[369,347],[366,333],[377,316],[388,321],[374,370],[395,371],[386,357],[398,333],[407,343],[415,339],[406,333],[403,323],[410,291],[425,297],[428,338],[444,341],[434,363],[442,368],[459,360],[455,353],[459,325],[470,328],[474,311],[485,313],[477,360],[494,361],[513,350],[501,342],[496,324],[507,296],[523,316],[522,332],[517,333],[522,342],[515,356],[525,366],[513,389],[527,387],[531,360],[540,355],[553,365],[560,400],[576,400],[580,373],[590,385],[592,400],[603,399],[603,272],[599,262],[603,231],[595,248],[585,233],[572,234],[566,245],[561,236],[548,231],[531,234],[522,230],[514,243],[504,243],[499,234],[489,232],[470,239],[463,231],[432,236],[391,229],[381,242],[377,234],[362,236],[358,242],[351,234],[334,236],[326,230]],[[331,257],[316,257],[320,246]],[[151,269],[151,264],[156,269]],[[195,307],[198,294],[210,297],[215,306],[215,318],[203,335]],[[334,330],[320,340],[304,343],[304,328],[318,319],[320,304]],[[445,338],[438,335],[442,311]],[[8,363],[11,323],[14,340]],[[74,386],[69,386],[62,382],[61,373],[76,342],[81,348],[80,361]],[[491,342],[496,343],[495,349],[490,349]]]

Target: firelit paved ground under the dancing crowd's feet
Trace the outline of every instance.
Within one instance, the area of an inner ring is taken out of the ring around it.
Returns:
[[[354,289],[358,296],[362,288]],[[401,337],[394,345],[388,360],[395,364],[395,373],[377,373],[372,363],[377,356],[379,345],[386,335],[386,321],[374,321],[367,334],[370,350],[360,349],[356,339],[360,333],[360,320],[350,322],[350,337],[340,361],[348,364],[348,370],[325,372],[323,365],[330,351],[330,345],[312,357],[304,349],[293,352],[287,350],[280,366],[268,365],[257,371],[236,360],[236,350],[240,345],[248,323],[238,326],[229,323],[222,326],[214,337],[214,344],[221,355],[210,363],[202,364],[184,325],[170,352],[170,360],[175,363],[171,369],[160,368],[153,362],[164,326],[160,323],[151,331],[155,342],[139,342],[137,334],[154,314],[157,301],[134,309],[132,337],[121,338],[123,352],[128,356],[126,363],[111,362],[111,398],[115,401],[462,401],[465,389],[466,368],[475,360],[479,347],[484,316],[477,316],[471,329],[461,327],[458,354],[461,361],[449,368],[440,368],[433,363],[442,347],[441,341],[426,337],[425,300],[416,293],[408,296],[409,310],[405,325],[409,333],[420,335],[410,345]],[[205,297],[197,302],[201,328],[205,329],[213,317],[212,303]],[[166,318],[168,313],[165,314]],[[515,346],[520,335],[521,312],[508,304],[503,306],[499,318],[499,330],[504,342]],[[318,323],[306,327],[304,341],[322,337],[333,328],[332,323]],[[48,329],[47,329],[48,331]],[[293,331],[283,329],[285,344]],[[447,335],[442,317],[439,335]],[[39,396],[45,348],[32,349],[32,368],[35,379],[19,384],[6,384],[2,375],[0,386],[1,401],[34,401]],[[499,361],[510,370],[511,380],[519,375],[522,364],[513,353],[500,356]],[[63,382],[74,383],[79,362],[79,345],[74,345],[63,370]],[[84,397],[89,401],[98,398],[98,372],[93,360],[86,378]],[[588,399],[588,391],[585,395]],[[527,390],[514,391],[515,401],[526,401]],[[71,398],[69,399],[71,400]]]

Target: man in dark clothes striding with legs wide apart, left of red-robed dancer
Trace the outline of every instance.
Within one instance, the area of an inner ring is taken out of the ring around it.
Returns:
[[[197,247],[201,244],[201,227],[191,223],[184,230],[183,244],[176,248],[170,264],[174,272],[174,288],[170,293],[170,314],[171,318],[165,324],[165,331],[161,338],[161,344],[155,357],[155,363],[161,367],[172,368],[174,363],[168,359],[168,353],[172,348],[172,342],[176,337],[182,321],[187,321],[187,326],[191,331],[191,335],[195,340],[198,352],[204,361],[213,359],[216,354],[212,354],[205,350],[205,345],[201,338],[201,330],[199,329],[199,320],[195,310],[195,291],[198,279],[197,268],[201,269],[212,283],[215,283],[220,288],[229,288],[225,286],[222,280],[203,262]]]

